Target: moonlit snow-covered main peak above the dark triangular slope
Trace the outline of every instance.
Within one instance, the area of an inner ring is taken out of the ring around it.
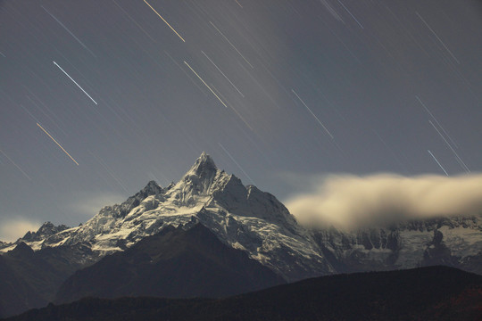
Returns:
[[[200,222],[220,241],[247,251],[287,280],[335,272],[320,253],[312,235],[298,226],[285,206],[270,193],[245,186],[234,175],[216,168],[203,152],[177,184],[162,188],[154,181],[120,205],[106,206],[84,225],[63,228],[34,249],[90,244],[99,257],[122,251],[164,226],[194,226]]]

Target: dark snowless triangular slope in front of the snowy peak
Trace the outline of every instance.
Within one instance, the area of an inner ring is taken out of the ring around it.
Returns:
[[[283,283],[244,251],[220,243],[201,224],[166,227],[106,256],[62,284],[57,302],[86,296],[222,297]]]

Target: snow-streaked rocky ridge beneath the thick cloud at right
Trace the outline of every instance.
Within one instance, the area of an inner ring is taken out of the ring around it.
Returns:
[[[482,259],[482,218],[430,218],[397,226],[340,232],[313,232],[316,242],[339,272],[447,265],[482,273],[465,261]]]

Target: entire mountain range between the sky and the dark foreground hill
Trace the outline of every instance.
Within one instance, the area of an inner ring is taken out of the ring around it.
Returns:
[[[85,296],[214,298],[348,272],[445,265],[482,274],[482,217],[308,229],[203,153],[176,184],[151,181],[84,225],[47,222],[0,251],[2,317]]]

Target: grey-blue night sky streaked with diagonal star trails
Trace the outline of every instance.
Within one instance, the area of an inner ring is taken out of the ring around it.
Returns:
[[[481,124],[480,1],[0,0],[11,231],[78,225],[203,151],[281,201],[328,173],[476,173]]]

